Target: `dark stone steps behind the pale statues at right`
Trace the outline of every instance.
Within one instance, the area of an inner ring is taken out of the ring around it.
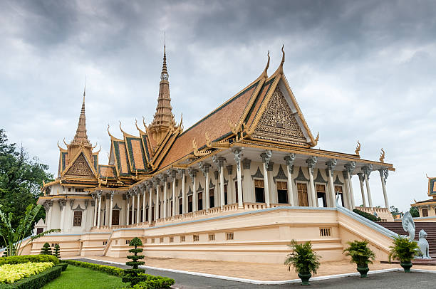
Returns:
[[[399,235],[408,235],[403,229],[401,222],[378,222],[390,231],[398,233]],[[419,240],[421,229],[427,233],[427,241],[430,247],[430,256],[436,258],[436,222],[415,222],[415,240]]]

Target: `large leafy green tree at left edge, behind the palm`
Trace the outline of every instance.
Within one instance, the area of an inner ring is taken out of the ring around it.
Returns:
[[[48,173],[48,165],[29,157],[24,147],[9,143],[6,132],[0,129],[0,204],[6,215],[13,214],[10,220],[13,228],[24,218],[27,206],[36,204],[43,182],[51,180],[53,175]],[[36,219],[45,219],[45,216],[46,212],[40,210]],[[33,228],[33,224],[31,226]],[[28,235],[30,233],[28,231]],[[6,243],[0,239],[2,246]]]

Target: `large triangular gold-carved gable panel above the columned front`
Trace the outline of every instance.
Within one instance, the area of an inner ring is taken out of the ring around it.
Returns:
[[[292,144],[307,143],[306,136],[279,86],[266,105],[266,110],[261,115],[252,137]]]

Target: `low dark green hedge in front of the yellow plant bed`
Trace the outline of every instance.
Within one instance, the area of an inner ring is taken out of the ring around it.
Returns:
[[[0,283],[0,289],[38,289],[42,288],[51,280],[58,278],[61,275],[62,267],[53,266],[47,270],[27,278],[16,281],[12,284]]]

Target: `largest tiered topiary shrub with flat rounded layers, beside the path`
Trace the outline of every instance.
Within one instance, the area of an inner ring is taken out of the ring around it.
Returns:
[[[127,256],[128,259],[132,261],[127,261],[125,265],[132,266],[132,269],[125,269],[124,270],[124,276],[123,276],[123,282],[124,283],[130,283],[130,286],[134,286],[137,283],[140,283],[141,281],[147,280],[147,276],[145,276],[145,270],[140,269],[140,265],[144,265],[144,261],[138,261],[140,259],[143,259],[143,255],[137,255],[137,253],[142,252],[142,248],[137,248],[138,246],[142,246],[142,242],[140,238],[133,238],[132,241],[130,241],[129,246],[135,247],[134,249],[130,249],[130,253],[134,253],[134,255]]]

